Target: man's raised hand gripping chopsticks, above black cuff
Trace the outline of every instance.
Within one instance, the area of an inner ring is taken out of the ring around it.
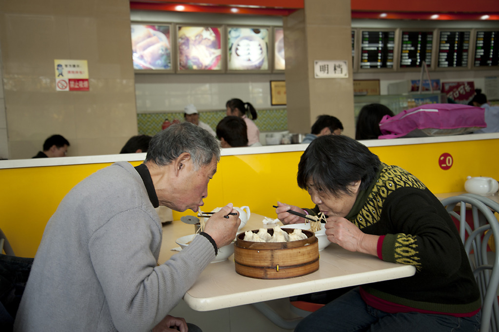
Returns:
[[[232,216],[229,213],[236,213],[237,215]],[[227,215],[229,218],[225,218]],[[208,219],[205,226],[205,233],[209,234],[215,240],[218,248],[221,248],[234,241],[240,224],[239,212],[233,209],[232,203],[229,203]]]

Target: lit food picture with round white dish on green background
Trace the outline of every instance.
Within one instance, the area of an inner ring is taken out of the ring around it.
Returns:
[[[229,70],[268,70],[269,28],[228,27]]]

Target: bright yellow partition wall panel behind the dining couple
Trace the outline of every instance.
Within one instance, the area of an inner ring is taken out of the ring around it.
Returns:
[[[468,175],[499,179],[499,139],[392,145],[370,150],[389,165],[399,165],[422,180],[434,193],[464,191]],[[247,205],[257,214],[275,217],[277,201],[300,207],[313,204],[296,184],[302,151],[222,156],[208,186],[203,211],[227,203]],[[439,166],[442,153],[453,165]],[[134,161],[134,166],[141,162]],[[16,255],[33,257],[43,229],[64,195],[78,182],[110,163],[0,169],[0,228]],[[194,212],[173,213],[178,220]]]

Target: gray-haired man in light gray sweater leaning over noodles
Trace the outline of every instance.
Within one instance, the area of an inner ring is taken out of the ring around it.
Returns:
[[[117,162],[77,184],[50,218],[14,331],[182,331],[168,313],[230,244],[239,214],[214,214],[201,236],[157,264],[162,226],[155,208],[197,212],[217,171],[220,143],[189,122],[161,131],[146,160]],[[199,331],[189,325],[192,331]]]

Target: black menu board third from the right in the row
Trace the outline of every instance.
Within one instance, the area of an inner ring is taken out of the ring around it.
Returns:
[[[400,68],[421,67],[423,61],[432,64],[433,31],[402,31]]]

